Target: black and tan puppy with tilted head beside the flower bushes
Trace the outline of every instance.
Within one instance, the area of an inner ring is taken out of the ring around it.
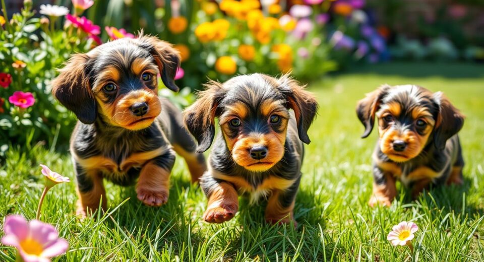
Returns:
[[[181,112],[158,97],[157,75],[174,84],[178,53],[155,37],[119,39],[75,54],[52,82],[52,94],[79,118],[71,137],[78,183],[78,214],[95,211],[103,178],[136,182],[138,199],[149,206],[168,200],[175,154],[184,157],[195,182],[206,170],[202,154],[185,129]]]

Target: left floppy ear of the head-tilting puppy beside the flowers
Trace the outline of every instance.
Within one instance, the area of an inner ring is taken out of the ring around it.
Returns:
[[[81,122],[92,124],[96,120],[97,107],[86,76],[88,61],[87,54],[72,55],[66,66],[59,70],[61,74],[52,81],[52,95]]]

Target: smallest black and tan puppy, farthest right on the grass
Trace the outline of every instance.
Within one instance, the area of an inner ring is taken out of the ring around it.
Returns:
[[[413,198],[431,184],[462,184],[457,132],[464,117],[441,92],[384,85],[360,100],[356,112],[366,128],[362,138],[370,135],[378,117],[370,206],[391,205],[395,180],[410,187]]]

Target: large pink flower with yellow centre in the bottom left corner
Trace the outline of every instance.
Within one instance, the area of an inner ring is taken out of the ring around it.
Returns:
[[[5,218],[4,232],[2,243],[15,246],[25,262],[48,262],[69,247],[53,226],[38,220],[28,222],[19,215]]]

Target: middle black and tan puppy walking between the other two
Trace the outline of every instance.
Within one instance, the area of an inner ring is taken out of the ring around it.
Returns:
[[[268,197],[268,222],[294,221],[294,200],[304,157],[302,142],[318,104],[313,95],[287,75],[238,76],[220,84],[209,82],[198,100],[184,112],[185,123],[206,151],[221,132],[200,178],[208,198],[204,220],[222,223],[238,210],[238,193],[251,193],[251,202]],[[289,111],[292,109],[292,111]]]

